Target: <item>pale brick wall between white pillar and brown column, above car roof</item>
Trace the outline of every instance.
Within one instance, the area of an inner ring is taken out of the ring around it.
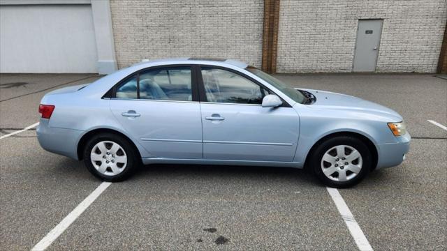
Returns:
[[[262,0],[111,0],[110,8],[119,68],[183,56],[261,66]]]

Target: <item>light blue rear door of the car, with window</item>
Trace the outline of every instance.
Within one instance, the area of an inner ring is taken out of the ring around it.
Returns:
[[[110,109],[152,158],[201,159],[202,122],[191,66],[149,68],[117,84]]]

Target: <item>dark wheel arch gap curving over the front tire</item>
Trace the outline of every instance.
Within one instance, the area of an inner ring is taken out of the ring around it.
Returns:
[[[321,137],[321,139],[318,139],[318,141],[311,147],[311,149],[307,152],[307,156],[305,159],[305,167],[307,167],[307,164],[309,162],[310,155],[314,152],[316,147],[318,147],[320,144],[325,142],[326,140],[332,138],[332,137],[338,137],[338,136],[351,136],[356,137],[360,139],[365,145],[368,147],[369,151],[372,153],[372,170],[374,170],[377,166],[377,163],[379,161],[379,151],[376,148],[376,145],[372,142],[371,139],[369,139],[367,136],[362,135],[358,132],[349,132],[349,131],[343,131],[343,132],[332,132],[328,135],[325,135],[324,137]]]

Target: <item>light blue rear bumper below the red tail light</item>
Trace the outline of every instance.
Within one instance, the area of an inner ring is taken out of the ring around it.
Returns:
[[[42,148],[51,153],[57,153],[78,160],[78,141],[82,130],[51,128],[48,119],[41,119],[36,128],[37,139]]]

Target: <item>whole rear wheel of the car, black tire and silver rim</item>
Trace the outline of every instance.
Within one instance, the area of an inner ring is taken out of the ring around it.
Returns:
[[[131,143],[119,135],[102,133],[91,137],[84,151],[91,174],[103,181],[124,181],[138,166]]]

